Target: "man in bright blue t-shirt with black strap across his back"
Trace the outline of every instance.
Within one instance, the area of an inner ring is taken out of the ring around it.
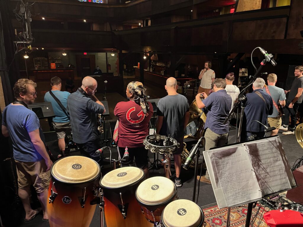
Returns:
[[[53,77],[51,79],[51,86],[52,86],[52,93],[55,95],[55,97],[58,98],[58,100],[62,103],[62,105],[67,107],[67,97],[70,95],[67,91],[61,91],[62,87],[62,80],[59,77]],[[45,102],[51,102],[52,107],[54,109],[55,117],[53,118],[53,126],[57,133],[58,137],[58,146],[61,152],[61,155],[58,156],[64,156],[65,151],[65,135],[66,133],[71,133],[72,126],[71,122],[69,120],[69,116],[67,111],[63,111],[62,108],[59,106],[57,101],[52,97],[52,95],[48,92],[45,93],[44,96]]]

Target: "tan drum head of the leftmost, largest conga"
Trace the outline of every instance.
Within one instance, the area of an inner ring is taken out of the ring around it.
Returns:
[[[63,183],[87,183],[98,178],[100,166],[88,157],[68,156],[52,165],[51,175]]]

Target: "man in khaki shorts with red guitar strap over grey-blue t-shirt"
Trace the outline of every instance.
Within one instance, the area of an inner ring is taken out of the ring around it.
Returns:
[[[281,127],[281,117],[278,112],[278,104],[282,107],[285,106],[285,93],[282,88],[276,87],[275,84],[277,83],[277,75],[274,73],[268,74],[267,76],[267,83],[268,87],[264,87],[263,90],[269,94],[272,98],[274,108],[273,113],[268,115],[268,124],[270,127],[275,127],[276,129],[271,131],[271,136],[275,136],[278,134],[279,128]]]

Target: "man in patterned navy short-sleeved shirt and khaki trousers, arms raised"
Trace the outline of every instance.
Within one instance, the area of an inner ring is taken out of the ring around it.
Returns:
[[[209,96],[205,92],[196,95],[198,108],[208,108],[204,126],[205,150],[224,145],[229,132],[229,123],[223,124],[231,110],[232,103],[231,96],[225,90],[226,81],[217,78],[212,85],[212,90],[215,92],[209,94]],[[204,100],[201,100],[201,96],[204,97]],[[205,183],[211,183],[208,170],[206,170],[205,176],[201,176],[201,178],[197,176],[197,179]]]

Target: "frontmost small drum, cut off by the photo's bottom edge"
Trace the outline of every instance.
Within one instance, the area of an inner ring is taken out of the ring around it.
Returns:
[[[161,216],[162,227],[201,227],[204,214],[201,208],[187,199],[169,203]]]

